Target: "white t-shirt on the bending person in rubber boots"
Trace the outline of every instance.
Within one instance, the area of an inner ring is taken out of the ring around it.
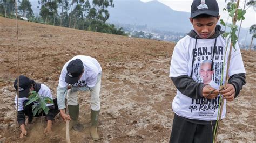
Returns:
[[[82,77],[77,81],[77,83],[73,84],[73,86],[77,87],[83,87],[87,84],[88,87],[94,87],[97,82],[97,76],[99,73],[102,73],[102,67],[100,67],[99,62],[90,57],[85,55],[77,55],[74,56],[72,59],[70,59],[68,62],[65,63],[65,65],[62,68],[62,73],[59,77],[59,86],[60,87],[67,87],[68,83],[66,83],[66,67],[68,66],[69,62],[75,59],[80,59],[83,62],[84,65],[84,73]]]

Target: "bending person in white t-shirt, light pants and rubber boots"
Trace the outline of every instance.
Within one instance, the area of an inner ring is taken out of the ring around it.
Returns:
[[[71,120],[71,128],[82,131],[83,125],[78,123],[79,104],[77,91],[91,92],[91,137],[98,140],[98,116],[100,110],[100,84],[102,68],[98,61],[90,56],[77,55],[65,63],[59,77],[57,88],[58,108],[63,120]],[[69,115],[65,113],[65,96],[67,95]]]

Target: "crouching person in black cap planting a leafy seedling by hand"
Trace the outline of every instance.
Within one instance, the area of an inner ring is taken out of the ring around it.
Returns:
[[[36,83],[35,81],[31,80],[30,78],[26,77],[26,76],[19,76],[19,88],[18,88],[18,79],[16,78],[15,82],[14,82],[14,87],[16,89],[16,92],[19,92],[19,100],[18,100],[18,104],[17,104],[17,95],[15,96],[15,104],[16,104],[16,108],[18,106],[18,116],[17,116],[17,120],[18,120],[18,124],[19,127],[21,127],[21,134],[20,134],[20,138],[23,138],[24,135],[27,134],[26,131],[26,125],[30,124],[33,120],[33,112],[32,112],[32,105],[35,104],[35,102],[30,103],[29,105],[25,106],[26,103],[28,103],[28,97],[29,97],[29,92],[30,91],[36,91],[38,92],[39,95],[43,96],[43,97],[49,97],[52,99],[52,94],[51,94],[51,90],[49,89],[49,87],[47,87],[44,84],[41,83]],[[58,109],[58,105],[57,105],[57,99],[53,99],[53,103],[54,104],[46,104],[46,106],[49,107],[49,111],[48,114],[45,115],[45,113],[43,113],[43,116],[46,116],[46,120],[47,120],[47,126],[44,130],[44,133],[48,133],[51,134],[52,130],[52,120],[54,120],[54,117],[59,113],[59,109]],[[44,111],[42,111],[44,112]],[[28,116],[28,118],[25,120],[25,116]],[[42,116],[42,113],[38,114],[36,113],[35,117],[40,117]]]

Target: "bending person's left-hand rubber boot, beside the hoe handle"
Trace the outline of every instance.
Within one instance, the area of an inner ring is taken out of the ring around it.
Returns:
[[[68,105],[69,106],[69,116],[71,118],[70,121],[70,130],[73,128],[75,131],[82,132],[84,130],[84,126],[78,123],[79,117],[79,104],[78,105]]]

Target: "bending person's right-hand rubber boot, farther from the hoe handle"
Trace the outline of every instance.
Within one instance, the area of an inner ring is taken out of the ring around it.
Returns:
[[[99,111],[93,111],[91,109],[91,128],[90,128],[90,132],[91,132],[92,140],[98,140],[99,139],[99,135],[98,135],[98,132],[97,132],[98,119],[99,119]]]

